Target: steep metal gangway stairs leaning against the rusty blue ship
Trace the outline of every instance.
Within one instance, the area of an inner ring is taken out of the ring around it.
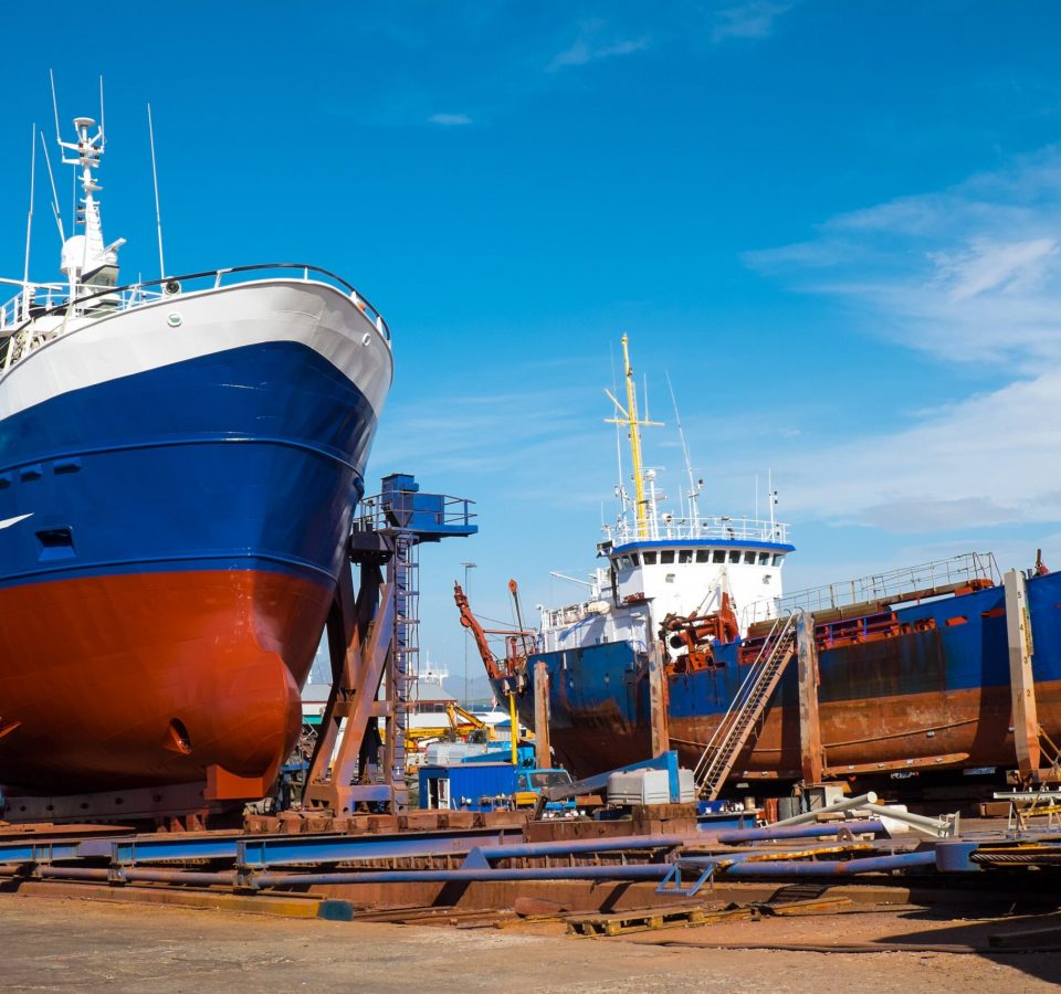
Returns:
[[[796,655],[796,615],[779,617],[696,763],[697,795],[714,801]]]

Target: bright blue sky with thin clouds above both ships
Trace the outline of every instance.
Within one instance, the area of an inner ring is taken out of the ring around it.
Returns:
[[[22,272],[30,128],[95,114],[124,274],[312,262],[395,335],[369,473],[476,501],[427,548],[450,599],[574,599],[613,512],[619,338],[676,496],[669,373],[705,511],[773,472],[797,590],[996,551],[1061,563],[1061,8],[1050,2],[258,2],[0,15],[0,272]],[[78,42],[85,54],[77,57]],[[64,194],[65,195],[65,194]],[[57,237],[38,184],[33,272]],[[477,674],[477,669],[475,670]]]

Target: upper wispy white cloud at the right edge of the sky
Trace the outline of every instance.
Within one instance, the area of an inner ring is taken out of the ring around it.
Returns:
[[[828,219],[745,262],[842,296],[866,324],[947,362],[1036,376],[1061,362],[1061,149],[949,189]],[[960,348],[956,348],[960,342]]]

